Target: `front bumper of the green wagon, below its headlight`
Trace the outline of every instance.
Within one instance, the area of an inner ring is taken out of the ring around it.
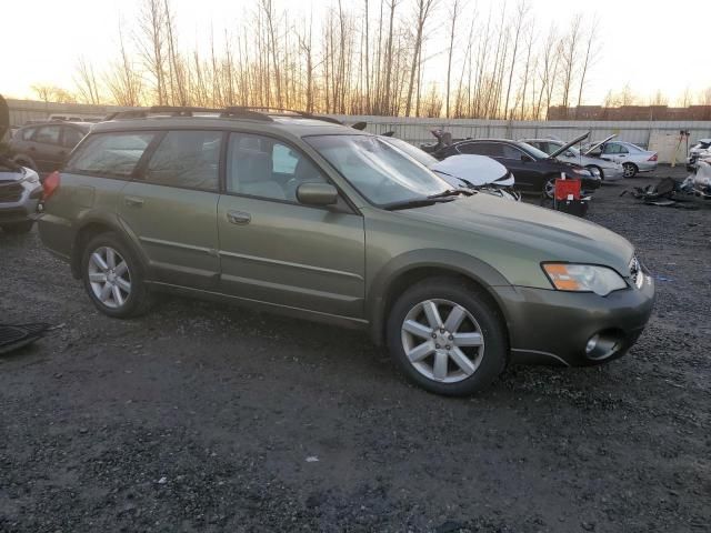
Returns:
[[[607,296],[528,286],[497,288],[509,325],[511,361],[585,366],[618,359],[637,342],[652,313],[654,281]],[[588,353],[599,335],[604,349]]]

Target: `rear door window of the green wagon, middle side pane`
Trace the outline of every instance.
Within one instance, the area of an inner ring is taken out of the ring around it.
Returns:
[[[221,141],[220,131],[169,131],[148,162],[144,181],[217,192]]]

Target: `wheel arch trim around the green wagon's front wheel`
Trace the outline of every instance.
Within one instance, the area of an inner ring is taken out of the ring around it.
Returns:
[[[418,257],[415,259],[415,257]],[[437,255],[437,259],[433,259]],[[403,254],[393,259],[370,284],[367,299],[370,334],[377,345],[383,345],[388,313],[408,286],[430,278],[451,278],[467,283],[494,306],[502,319],[507,341],[509,316],[494,286],[510,286],[508,280],[493,266],[471,255],[445,250],[431,250],[420,254]]]

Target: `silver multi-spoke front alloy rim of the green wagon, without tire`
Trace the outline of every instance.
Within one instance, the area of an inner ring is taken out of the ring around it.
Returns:
[[[425,300],[414,305],[402,322],[401,338],[410,364],[442,383],[468,379],[484,355],[484,338],[477,320],[449,300]]]

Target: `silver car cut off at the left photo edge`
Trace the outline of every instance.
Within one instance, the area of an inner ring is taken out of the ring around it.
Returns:
[[[0,228],[4,232],[30,231],[41,195],[37,172],[0,157]]]

